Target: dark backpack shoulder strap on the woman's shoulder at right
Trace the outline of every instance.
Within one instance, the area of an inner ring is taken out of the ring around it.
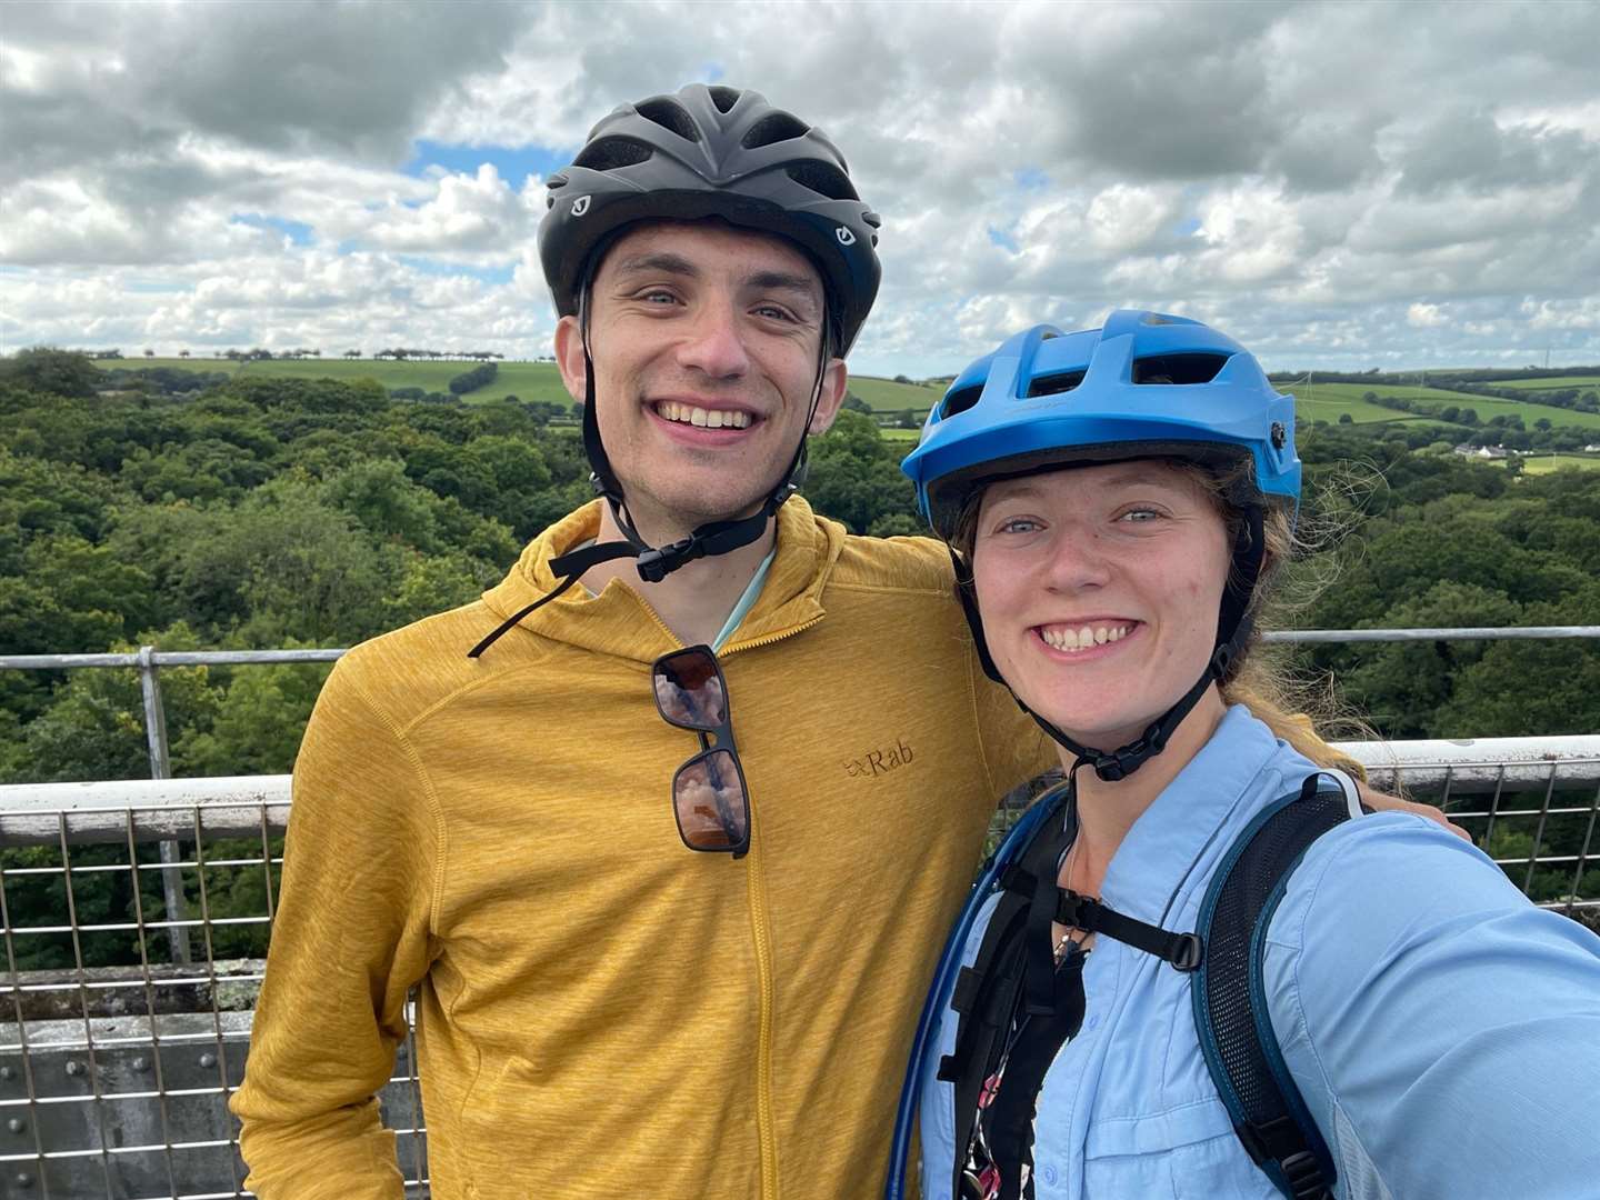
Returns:
[[[1330,779],[1336,789],[1323,786]],[[1200,1048],[1234,1131],[1288,1200],[1326,1200],[1338,1173],[1272,1032],[1266,931],[1306,850],[1362,811],[1347,774],[1309,776],[1238,835],[1200,906],[1205,960],[1192,982]]]

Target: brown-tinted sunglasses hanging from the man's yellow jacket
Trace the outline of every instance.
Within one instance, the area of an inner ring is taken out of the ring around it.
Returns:
[[[750,848],[750,797],[733,744],[728,683],[717,656],[710,646],[662,654],[651,669],[651,682],[661,718],[693,730],[701,741],[699,754],[672,776],[678,837],[690,850],[730,851],[742,858]]]

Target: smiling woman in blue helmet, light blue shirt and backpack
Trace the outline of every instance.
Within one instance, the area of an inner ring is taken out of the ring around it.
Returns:
[[[925,1200],[1600,1195],[1600,939],[1410,814],[1331,827],[1264,918],[1256,1032],[1304,1141],[1235,1130],[1213,1082],[1202,899],[1269,806],[1339,786],[1293,722],[1234,702],[1291,547],[1293,430],[1234,341],[1117,312],[974,363],[906,459],[1069,774],[952,936],[979,970],[930,997]]]

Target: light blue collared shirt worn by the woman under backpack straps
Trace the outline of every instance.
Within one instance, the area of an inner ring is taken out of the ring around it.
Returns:
[[[1234,838],[1314,770],[1230,709],[1128,832],[1101,898],[1194,930]],[[1533,907],[1482,851],[1405,813],[1323,835],[1272,918],[1264,982],[1338,1197],[1600,1197],[1600,938]],[[1189,976],[1102,934],[1083,986],[1083,1027],[1038,1098],[1037,1200],[1280,1200],[1211,1083]],[[941,1010],[920,1064],[923,1200],[946,1200],[955,1154]]]

